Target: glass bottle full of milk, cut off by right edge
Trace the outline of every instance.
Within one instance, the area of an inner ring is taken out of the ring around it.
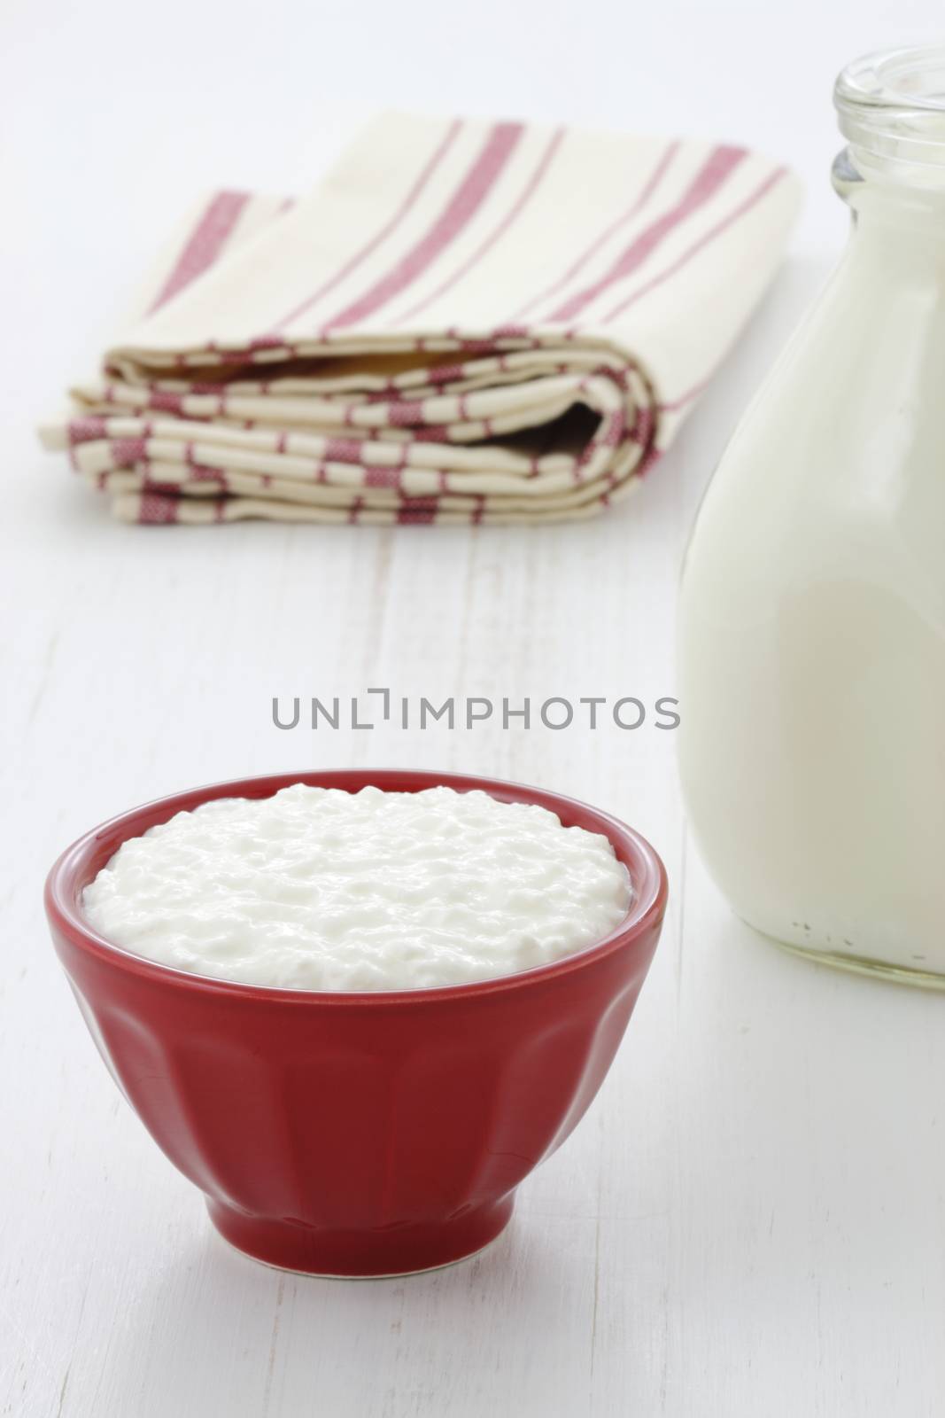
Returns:
[[[834,98],[849,247],[696,522],[680,771],[744,920],[945,987],[945,50]]]

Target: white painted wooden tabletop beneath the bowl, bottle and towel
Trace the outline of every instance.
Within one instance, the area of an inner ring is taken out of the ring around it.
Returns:
[[[868,1418],[945,1405],[941,997],[833,974],[730,915],[687,841],[672,733],[279,730],[271,700],[676,686],[681,550],[725,437],[846,218],[829,105],[853,52],[936,7],[170,0],[7,7],[0,380],[7,822],[0,1412],[17,1418]],[[265,14],[265,20],[264,20]],[[898,16],[898,23],[894,21]],[[567,79],[567,82],[564,81]],[[33,421],[173,217],[310,184],[368,108],[749,139],[809,183],[792,254],[677,445],[619,512],[526,530],[129,529]],[[48,944],[45,868],[197,781],[392,764],[587,798],[672,900],[589,1115],[482,1256],[404,1280],[282,1275],[217,1239],[119,1098]]]

